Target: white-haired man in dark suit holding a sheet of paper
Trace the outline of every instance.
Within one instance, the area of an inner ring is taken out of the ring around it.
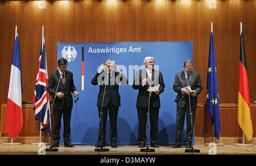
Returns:
[[[146,57],[144,59],[144,66],[146,69],[139,70],[135,74],[133,88],[139,90],[137,97],[137,113],[139,121],[138,142],[139,148],[146,146],[146,124],[148,112],[148,100],[150,99],[150,146],[158,148],[158,116],[160,108],[159,95],[164,91],[164,81],[161,71],[154,70],[154,58]],[[159,90],[155,92],[148,92],[148,88],[158,86]]]

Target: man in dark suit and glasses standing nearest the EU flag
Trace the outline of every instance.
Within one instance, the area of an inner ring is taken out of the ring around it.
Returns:
[[[177,92],[177,97],[175,102],[177,103],[177,114],[176,114],[176,141],[174,148],[181,147],[181,134],[183,131],[185,114],[187,120],[187,135],[186,135],[186,148],[191,148],[193,126],[195,123],[196,108],[197,108],[197,96],[202,91],[200,74],[192,71],[193,62],[187,60],[184,62],[184,71],[177,73],[174,79],[174,91]],[[190,87],[190,89],[189,89]],[[192,92],[190,92],[192,90]],[[191,126],[191,116],[189,108],[189,95],[191,103],[191,113],[192,113],[192,126]],[[187,112],[187,113],[186,113]]]

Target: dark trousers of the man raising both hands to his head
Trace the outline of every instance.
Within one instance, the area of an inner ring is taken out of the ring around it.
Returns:
[[[98,135],[98,143],[105,144],[106,140],[106,122],[108,120],[108,110],[109,110],[109,121],[110,121],[110,142],[111,144],[117,143],[117,115],[118,107],[114,107],[112,102],[109,102],[108,107],[102,107],[102,120],[100,122],[100,132]],[[98,107],[98,115],[100,117],[101,107]]]

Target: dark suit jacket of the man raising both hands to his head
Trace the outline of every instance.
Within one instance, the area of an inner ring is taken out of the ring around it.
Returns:
[[[105,90],[105,96],[104,96],[104,103],[103,107],[108,107],[110,97],[112,99],[112,103],[114,107],[119,107],[121,105],[120,102],[120,94],[118,91],[119,83],[127,84],[127,78],[122,73],[119,74],[115,71],[112,72],[112,76],[110,77],[110,84],[109,84],[109,78],[107,78],[108,74],[106,70],[102,73],[97,73],[91,83],[94,86],[97,86],[97,84],[100,84],[100,91],[98,92],[98,100],[97,100],[97,107],[102,106],[103,96],[104,96],[104,90],[105,90],[105,84],[106,84],[106,90]]]

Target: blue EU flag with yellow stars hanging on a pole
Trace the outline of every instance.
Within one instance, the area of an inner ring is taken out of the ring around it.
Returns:
[[[220,139],[220,106],[218,103],[218,85],[212,32],[210,33],[210,49],[207,74],[207,109],[210,113],[210,122],[212,125],[214,124],[214,137]]]

